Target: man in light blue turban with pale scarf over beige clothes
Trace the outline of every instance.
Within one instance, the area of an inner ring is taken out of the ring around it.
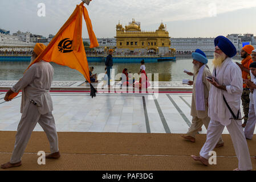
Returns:
[[[190,85],[193,85],[192,104],[191,104],[191,115],[192,125],[189,128],[186,135],[181,137],[196,142],[196,134],[200,131],[202,125],[205,125],[208,129],[210,118],[208,117],[208,96],[210,90],[210,83],[206,80],[206,77],[211,77],[209,68],[206,67],[208,59],[203,51],[197,49],[196,52],[192,53],[193,57],[193,69],[194,78],[193,81],[189,81]],[[224,146],[224,142],[220,137],[216,147]]]

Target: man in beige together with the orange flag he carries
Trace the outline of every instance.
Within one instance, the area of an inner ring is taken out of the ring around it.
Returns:
[[[90,1],[85,1],[87,5]],[[10,101],[22,90],[22,118],[18,125],[13,156],[10,162],[2,164],[1,168],[21,166],[21,158],[36,123],[38,122],[46,132],[51,146],[51,154],[46,158],[58,159],[58,136],[54,117],[51,114],[52,100],[50,88],[54,69],[48,62],[65,65],[78,70],[90,82],[91,97],[96,96],[97,90],[91,85],[86,51],[82,40],[82,19],[86,20],[88,34],[91,40],[90,48],[99,46],[91,19],[84,2],[76,6],[67,22],[60,28],[52,41],[45,47],[36,44],[31,57],[31,64],[16,85],[6,93],[5,100]]]

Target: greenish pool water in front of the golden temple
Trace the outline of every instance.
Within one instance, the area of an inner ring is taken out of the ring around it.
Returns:
[[[213,70],[212,66],[213,57],[209,58],[210,70]],[[235,60],[238,61],[238,60]],[[63,67],[61,65],[51,63],[54,67],[54,81],[84,81],[84,77],[81,73],[75,69]],[[29,62],[1,62],[0,61],[0,80],[19,80],[22,77],[23,72],[29,65]],[[105,64],[102,63],[89,63],[89,66],[94,67],[94,73],[99,75],[104,73]],[[184,69],[193,71],[192,59],[178,57],[176,61],[163,61],[159,63],[146,63],[146,72],[159,73],[159,81],[182,81],[182,79],[192,79],[191,76],[183,73]],[[122,73],[124,68],[128,69],[128,72],[138,73],[140,69],[139,63],[116,63],[113,65],[115,73]]]

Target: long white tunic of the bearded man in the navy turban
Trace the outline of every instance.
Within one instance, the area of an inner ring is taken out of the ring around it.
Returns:
[[[213,76],[215,77],[214,71]],[[215,86],[211,87],[209,92],[208,115],[212,120],[227,126],[230,125],[230,118],[233,118],[233,116],[224,102],[223,95],[233,113],[237,115],[241,106],[243,91],[242,72],[238,65],[230,57],[227,57],[221,67],[216,68],[216,77],[218,84],[225,85],[227,91],[218,89]],[[241,111],[239,112],[239,118],[241,118]]]

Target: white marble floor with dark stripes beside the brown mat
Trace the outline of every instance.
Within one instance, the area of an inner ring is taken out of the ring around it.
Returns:
[[[16,131],[21,94],[5,102],[0,92],[0,131]],[[191,125],[192,94],[51,93],[59,132],[186,133]],[[156,98],[153,100],[152,98]],[[43,131],[36,125],[34,131]],[[206,133],[203,126],[202,134]],[[228,133],[224,129],[224,134]],[[256,132],[255,132],[256,134]]]

